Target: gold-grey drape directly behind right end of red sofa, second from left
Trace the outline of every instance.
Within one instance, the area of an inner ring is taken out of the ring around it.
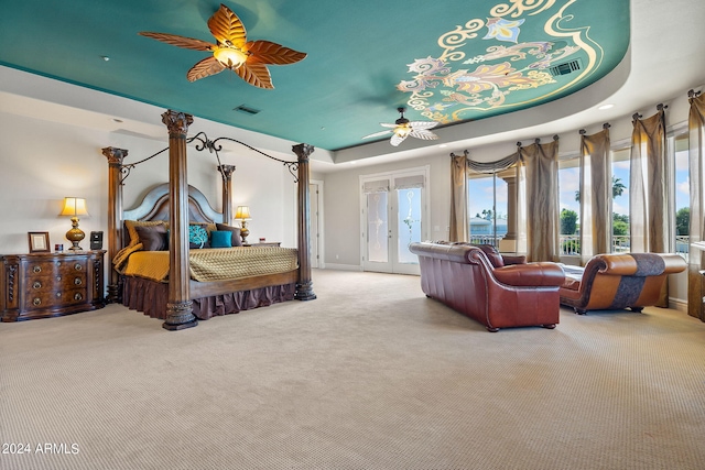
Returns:
[[[558,141],[519,147],[525,178],[527,260],[560,261]]]

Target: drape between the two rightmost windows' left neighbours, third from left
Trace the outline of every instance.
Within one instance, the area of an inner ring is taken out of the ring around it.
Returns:
[[[592,135],[581,132],[581,256],[585,264],[593,255],[611,251],[612,192],[609,125]]]

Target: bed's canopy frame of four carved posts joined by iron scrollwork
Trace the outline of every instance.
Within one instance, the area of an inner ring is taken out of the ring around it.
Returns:
[[[187,183],[186,145],[197,141],[196,150],[208,150],[218,159],[218,171],[223,177],[223,222],[229,223],[232,219],[231,201],[231,175],[234,165],[221,165],[218,151],[220,140],[239,143],[269,159],[284,164],[294,176],[297,184],[297,251],[299,270],[294,299],[312,300],[316,298],[313,292],[310,261],[310,231],[311,231],[311,195],[308,193],[310,167],[308,156],[313,153],[312,145],[301,143],[292,146],[296,154],[295,162],[288,162],[268,155],[250,145],[230,138],[208,140],[205,133],[199,132],[194,138],[187,139],[188,127],[193,123],[193,116],[184,112],[167,110],[162,114],[162,122],[169,130],[169,147],[137,163],[123,164],[128,155],[124,149],[106,147],[102,154],[108,159],[108,255],[112,260],[122,248],[123,233],[123,207],[122,186],[130,171],[140,163],[169,150],[169,219],[170,219],[170,272],[169,296],[166,302],[166,318],[162,326],[167,330],[181,330],[198,325],[198,319],[193,314],[191,292],[191,276],[188,270],[188,209],[189,186]],[[112,263],[111,263],[112,267]],[[112,267],[108,282],[108,302],[120,302],[120,274]]]

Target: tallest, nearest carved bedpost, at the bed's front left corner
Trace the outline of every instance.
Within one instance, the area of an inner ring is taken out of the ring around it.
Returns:
[[[188,179],[186,175],[186,134],[194,121],[191,114],[169,110],[162,122],[169,129],[169,299],[167,330],[180,330],[198,325],[194,316],[188,272]]]

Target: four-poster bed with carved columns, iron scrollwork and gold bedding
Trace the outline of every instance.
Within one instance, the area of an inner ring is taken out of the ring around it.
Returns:
[[[196,150],[208,149],[217,156],[217,152],[220,150],[217,145],[219,139],[209,141],[205,134],[199,133],[187,140],[188,125],[193,122],[191,114],[170,110],[162,114],[162,121],[167,127],[170,136],[169,183],[153,188],[133,209],[123,210],[122,208],[122,185],[124,176],[137,164],[126,165],[122,163],[128,154],[127,150],[115,147],[102,150],[102,154],[109,163],[108,254],[110,260],[113,260],[108,283],[108,302],[122,302],[147,315],[164,319],[162,326],[165,329],[180,330],[194,327],[198,319],[206,319],[213,315],[237,313],[289,299],[311,300],[316,298],[312,288],[308,260],[308,155],[313,152],[313,146],[294,145],[292,150],[296,154],[297,161],[285,162],[242,142],[220,138],[240,143],[264,156],[282,162],[294,175],[299,199],[296,250],[273,247],[191,250],[188,243],[189,225],[228,225],[231,221],[231,174],[235,166],[218,165],[223,177],[223,211],[218,212],[213,209],[203,193],[187,184],[186,144],[197,140],[199,143],[196,145]],[[142,162],[138,162],[138,164]],[[126,228],[126,221],[130,221],[127,223],[129,228]],[[138,245],[140,240],[134,238],[134,227],[161,223],[165,223],[167,227],[165,237],[169,251],[148,253],[140,250],[143,245]],[[202,252],[196,253],[199,251]],[[164,263],[165,267],[162,269],[164,271],[162,274],[167,274],[162,278],[159,278],[160,276],[150,278],[150,276],[121,274],[126,272],[124,263],[129,256],[132,256],[132,252],[140,252],[135,258],[148,259],[149,261],[142,263],[152,267]],[[205,252],[210,253],[206,254]],[[292,255],[295,258],[293,262],[290,259]],[[235,278],[223,278],[223,270],[213,277],[208,277],[206,274],[205,281],[192,278],[194,265],[202,263],[204,258],[217,258],[216,263],[221,269],[224,266],[228,270],[235,269],[232,265],[236,262],[224,256],[240,258],[238,262],[243,265],[243,271],[236,270]],[[248,263],[241,260],[248,256],[257,260],[260,266],[248,271],[246,266]],[[197,260],[198,258],[202,260]]]

